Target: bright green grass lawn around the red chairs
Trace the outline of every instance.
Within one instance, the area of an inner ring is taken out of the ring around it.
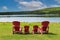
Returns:
[[[21,22],[21,26],[30,26],[30,32],[33,25],[41,26],[39,22]],[[49,24],[49,34],[12,34],[12,23],[0,22],[0,40],[60,40],[60,22],[51,22]]]

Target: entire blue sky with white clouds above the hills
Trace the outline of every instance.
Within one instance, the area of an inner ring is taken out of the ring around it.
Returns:
[[[60,7],[60,0],[0,0],[0,12],[32,11]]]

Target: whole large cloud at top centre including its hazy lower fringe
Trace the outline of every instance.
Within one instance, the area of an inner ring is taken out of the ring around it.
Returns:
[[[45,4],[43,4],[40,1],[30,1],[30,2],[18,1],[18,3],[19,5],[22,5],[22,6],[19,6],[18,8],[23,9],[25,11],[37,10],[37,9],[42,9],[47,7]]]

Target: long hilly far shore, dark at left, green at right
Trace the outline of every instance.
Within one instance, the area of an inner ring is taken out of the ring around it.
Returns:
[[[60,17],[60,7],[45,8],[34,11],[22,11],[22,12],[0,12],[0,15],[21,15],[21,14],[37,14],[45,16],[58,16]]]

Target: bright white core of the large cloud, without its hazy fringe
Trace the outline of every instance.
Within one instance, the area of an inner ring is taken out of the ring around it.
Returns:
[[[41,2],[31,1],[31,2],[19,2],[26,7],[41,7],[43,4]]]

